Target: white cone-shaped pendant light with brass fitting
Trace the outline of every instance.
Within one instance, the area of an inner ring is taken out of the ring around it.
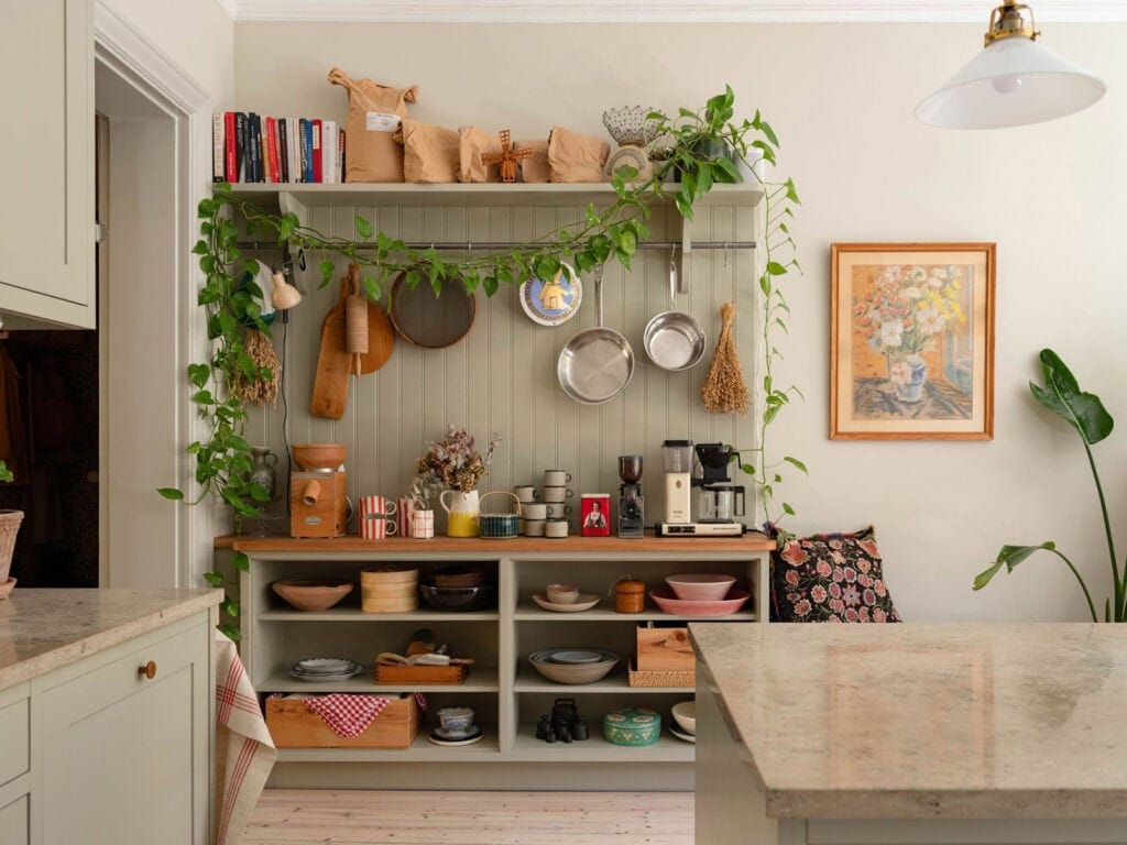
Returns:
[[[1023,126],[1095,103],[1103,80],[1037,43],[1033,11],[1006,0],[990,16],[986,48],[916,106],[916,119],[953,130]]]

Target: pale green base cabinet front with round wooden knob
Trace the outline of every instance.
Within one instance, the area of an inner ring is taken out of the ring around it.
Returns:
[[[43,845],[206,845],[210,638],[199,625],[44,692]]]

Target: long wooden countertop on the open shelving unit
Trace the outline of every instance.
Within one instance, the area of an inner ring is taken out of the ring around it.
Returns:
[[[394,554],[512,554],[520,553],[762,553],[775,548],[773,540],[760,532],[742,537],[657,537],[647,532],[645,537],[569,536],[561,540],[544,537],[513,537],[512,540],[482,540],[481,537],[446,537],[414,540],[388,537],[362,540],[357,536],[328,540],[300,540],[289,536],[250,537],[227,534],[215,537],[216,549],[237,552],[381,552]]]

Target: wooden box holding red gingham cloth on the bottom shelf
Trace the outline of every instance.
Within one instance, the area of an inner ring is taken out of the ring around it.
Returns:
[[[356,737],[341,737],[317,713],[305,695],[267,699],[266,727],[278,748],[409,748],[419,730],[414,693],[390,695],[391,703]]]

